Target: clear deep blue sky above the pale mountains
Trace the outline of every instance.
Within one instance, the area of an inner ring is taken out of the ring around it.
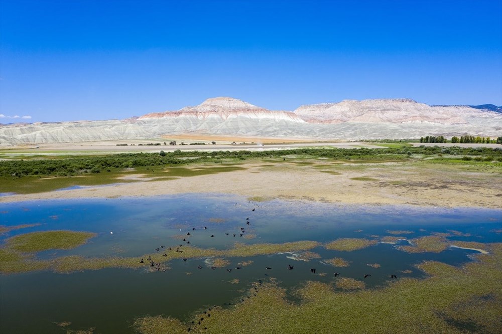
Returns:
[[[501,105],[501,17],[500,0],[0,0],[0,122],[123,119],[216,96],[273,110]]]

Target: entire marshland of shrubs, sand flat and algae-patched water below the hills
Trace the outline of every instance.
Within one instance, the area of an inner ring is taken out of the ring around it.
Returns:
[[[0,330],[499,332],[502,150],[448,150],[3,150]]]

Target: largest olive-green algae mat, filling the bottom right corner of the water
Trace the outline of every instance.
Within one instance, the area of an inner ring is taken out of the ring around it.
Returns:
[[[350,278],[336,279],[334,285],[307,282],[298,289],[302,301],[294,304],[287,301],[285,289],[264,282],[231,307],[207,310],[210,317],[196,314],[193,319],[204,317],[200,325],[147,316],[134,326],[148,334],[185,333],[188,328],[215,333],[497,333],[502,245],[490,247],[493,254],[478,255],[479,261],[461,268],[423,263],[419,268],[429,275],[425,279],[400,277],[376,289],[363,289],[364,282]],[[349,290],[337,291],[338,284]]]

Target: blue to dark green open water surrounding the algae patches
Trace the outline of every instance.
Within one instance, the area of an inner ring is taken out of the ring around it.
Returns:
[[[366,288],[378,288],[388,284],[391,274],[399,278],[422,277],[423,273],[414,266],[421,261],[458,266],[478,253],[459,248],[408,253],[397,249],[400,243],[408,244],[406,241],[398,241],[397,245],[382,243],[382,237],[411,240],[447,233],[451,242],[491,243],[501,241],[497,231],[502,225],[500,210],[254,202],[218,194],[3,203],[0,211],[1,225],[39,224],[4,233],[2,243],[10,237],[38,231],[97,233],[88,243],[74,249],[39,252],[39,259],[81,255],[137,257],[140,261],[145,254],[158,253],[156,248],[161,245],[166,245],[165,249],[172,247],[171,251],[180,244],[187,247],[183,238],[191,242],[190,246],[219,250],[232,248],[236,242],[321,243],[309,249],[318,254],[309,261],[300,260],[304,252],[298,251],[225,257],[229,264],[214,270],[208,258],[189,258],[163,263],[162,268],[170,267],[166,271],[152,271],[145,261],[145,267],[140,269],[2,274],[0,332],[4,333],[54,333],[62,331],[56,323],[64,321],[71,322],[68,328],[72,330],[94,327],[95,332],[133,332],[131,325],[139,316],[163,314],[186,320],[209,305],[227,307],[228,303],[238,302],[259,279],[276,278],[279,286],[293,292],[307,280],[334,286],[334,273],[339,272],[340,276],[364,281]],[[241,228],[245,230],[243,237]],[[323,244],[340,238],[364,238],[375,244],[354,251],[324,248]],[[334,267],[323,262],[332,258],[343,258],[349,266]],[[252,262],[242,265],[243,261]],[[288,265],[294,266],[294,270],[288,270]],[[229,268],[231,272],[225,270]],[[311,273],[311,268],[316,268],[316,274]],[[364,274],[371,277],[363,279]],[[230,283],[235,279],[237,284]],[[294,293],[291,299],[296,301]]]

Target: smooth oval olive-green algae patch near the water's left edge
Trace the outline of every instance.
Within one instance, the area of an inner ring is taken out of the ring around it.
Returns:
[[[17,235],[7,240],[7,247],[21,252],[48,249],[71,249],[83,245],[96,233],[76,231],[45,231]]]

